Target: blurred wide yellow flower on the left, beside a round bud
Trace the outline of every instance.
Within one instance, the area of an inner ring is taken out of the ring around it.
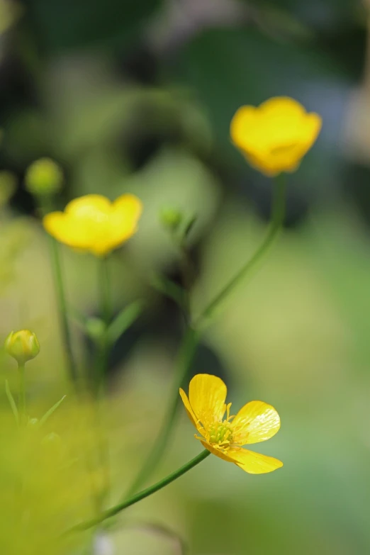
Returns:
[[[67,204],[64,212],[47,214],[43,225],[65,245],[104,256],[136,232],[141,212],[142,203],[134,195],[119,196],[114,202],[86,195]]]

